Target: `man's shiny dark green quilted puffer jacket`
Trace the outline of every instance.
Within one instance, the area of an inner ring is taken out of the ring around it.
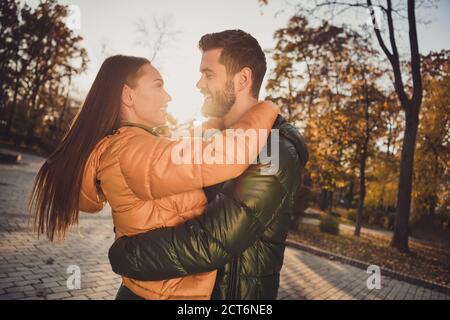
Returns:
[[[273,128],[279,129],[279,167],[273,175],[261,174],[269,164],[258,161],[241,176],[205,189],[208,207],[200,217],[117,239],[109,251],[113,271],[162,280],[218,269],[213,299],[276,299],[308,151],[282,117]]]

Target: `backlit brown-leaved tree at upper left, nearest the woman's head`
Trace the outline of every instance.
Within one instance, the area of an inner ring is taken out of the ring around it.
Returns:
[[[35,127],[45,115],[45,106],[39,103],[40,93],[51,81],[71,79],[86,69],[87,53],[80,47],[81,37],[65,24],[67,7],[56,1],[40,3],[28,16],[23,16],[24,27],[32,35],[27,42],[27,53],[33,57],[30,72],[25,77],[29,95],[27,141],[31,143]]]

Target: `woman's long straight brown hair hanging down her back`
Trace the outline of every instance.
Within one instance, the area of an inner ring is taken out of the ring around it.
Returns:
[[[116,55],[107,58],[86,100],[62,142],[40,168],[29,208],[35,214],[38,236],[64,239],[78,223],[79,194],[86,161],[95,145],[120,125],[120,100],[124,84],[133,86],[141,66],[150,63],[139,57]]]

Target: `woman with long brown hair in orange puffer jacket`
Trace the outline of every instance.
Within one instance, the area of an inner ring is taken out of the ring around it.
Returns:
[[[241,129],[238,133],[220,132],[224,144],[212,149],[215,158],[227,161],[195,161],[194,150],[190,161],[180,163],[173,159],[180,141],[155,130],[165,124],[170,100],[147,59],[117,55],[105,60],[72,126],[36,177],[30,207],[39,235],[62,240],[78,223],[80,210],[98,212],[105,202],[112,209],[116,238],[200,215],[207,205],[202,188],[239,176],[264,147],[278,114],[275,105],[260,102],[232,126]],[[263,134],[246,139],[242,135],[248,129]],[[211,149],[211,141],[192,139]],[[237,161],[237,152],[230,163],[225,146],[242,141],[245,161]],[[216,270],[162,281],[123,277],[117,298],[121,290],[131,290],[144,299],[209,299],[215,277]]]

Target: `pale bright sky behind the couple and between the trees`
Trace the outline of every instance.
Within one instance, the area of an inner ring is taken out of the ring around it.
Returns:
[[[35,5],[37,0],[26,1]],[[136,24],[152,26],[153,18],[166,19],[169,30],[177,32],[154,61],[166,89],[172,96],[169,112],[183,122],[199,117],[202,96],[195,87],[200,77],[201,53],[197,44],[205,33],[225,29],[243,29],[252,34],[263,49],[273,48],[274,32],[284,27],[294,13],[298,0],[272,0],[261,7],[257,0],[61,0],[79,11],[75,32],[83,37],[90,63],[88,70],[73,82],[74,95],[86,96],[103,60],[112,54],[149,57],[150,50],[137,42],[141,38]],[[432,23],[418,26],[422,53],[450,49],[450,0],[441,0],[438,9],[424,10],[422,18]],[[364,23],[365,12],[348,15],[353,23]],[[79,27],[79,28],[78,28]],[[407,33],[403,35],[407,37]],[[104,48],[104,49],[102,49]],[[267,56],[268,72],[273,66]],[[266,76],[267,79],[267,76]],[[263,84],[263,87],[265,84]],[[262,90],[261,97],[265,91]]]

